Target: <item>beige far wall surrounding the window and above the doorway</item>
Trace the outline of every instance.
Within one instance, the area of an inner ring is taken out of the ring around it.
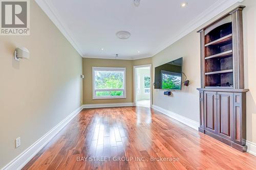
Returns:
[[[151,64],[151,58],[139,60],[115,60],[83,58],[83,103],[133,103],[133,66]],[[92,67],[125,67],[126,68],[126,99],[97,99],[93,100],[92,90]]]

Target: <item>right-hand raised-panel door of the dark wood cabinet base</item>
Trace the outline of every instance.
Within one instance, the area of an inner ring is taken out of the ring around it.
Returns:
[[[217,124],[218,135],[232,140],[233,133],[233,93],[218,92],[217,93]]]

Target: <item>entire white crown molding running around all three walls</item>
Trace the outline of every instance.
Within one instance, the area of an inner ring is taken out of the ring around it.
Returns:
[[[106,57],[106,56],[91,56],[91,55],[83,55],[78,48],[78,43],[76,43],[72,33],[69,31],[68,27],[65,25],[65,22],[61,19],[60,16],[57,15],[55,7],[52,5],[51,1],[49,0],[35,0],[36,3],[41,7],[41,9],[48,15],[48,17],[52,20],[55,26],[60,30],[60,32],[68,39],[68,41],[73,45],[76,51],[83,57],[83,58],[102,58],[102,59],[116,59],[115,57]],[[162,43],[159,47],[156,48],[151,55],[142,55],[142,56],[132,56],[132,57],[119,57],[117,59],[120,60],[137,60],[142,58],[149,58],[153,57],[166,47],[172,45],[174,42],[178,41],[185,35],[189,34],[190,32],[194,31],[195,29],[202,26],[205,22],[209,21],[211,18],[214,18],[224,10],[228,9],[232,5],[236,3],[241,3],[244,0],[218,0],[214,5],[210,8],[206,9],[203,13],[197,16],[194,20],[190,21],[181,31],[170,37],[166,42]]]

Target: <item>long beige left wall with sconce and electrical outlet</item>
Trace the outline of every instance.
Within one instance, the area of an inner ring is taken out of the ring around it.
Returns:
[[[0,169],[82,103],[82,58],[30,3],[31,35],[0,36]],[[27,47],[30,59],[15,61],[16,46]]]

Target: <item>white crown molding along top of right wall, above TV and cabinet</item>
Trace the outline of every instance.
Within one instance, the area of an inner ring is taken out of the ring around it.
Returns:
[[[214,5],[210,6],[208,9],[206,9],[204,12],[202,12],[200,15],[198,15],[194,20],[191,20],[185,27],[181,29],[181,31],[174,35],[173,37],[170,37],[169,40],[162,43],[154,52],[152,52],[151,57],[155,56],[156,54],[163,51],[168,46],[172,45],[182,37],[186,36],[187,34],[193,32],[194,30],[198,29],[199,27],[202,27],[204,23],[209,21],[210,19],[214,18],[221,12],[225,11],[232,5],[236,3],[241,3],[244,0],[218,0]]]

